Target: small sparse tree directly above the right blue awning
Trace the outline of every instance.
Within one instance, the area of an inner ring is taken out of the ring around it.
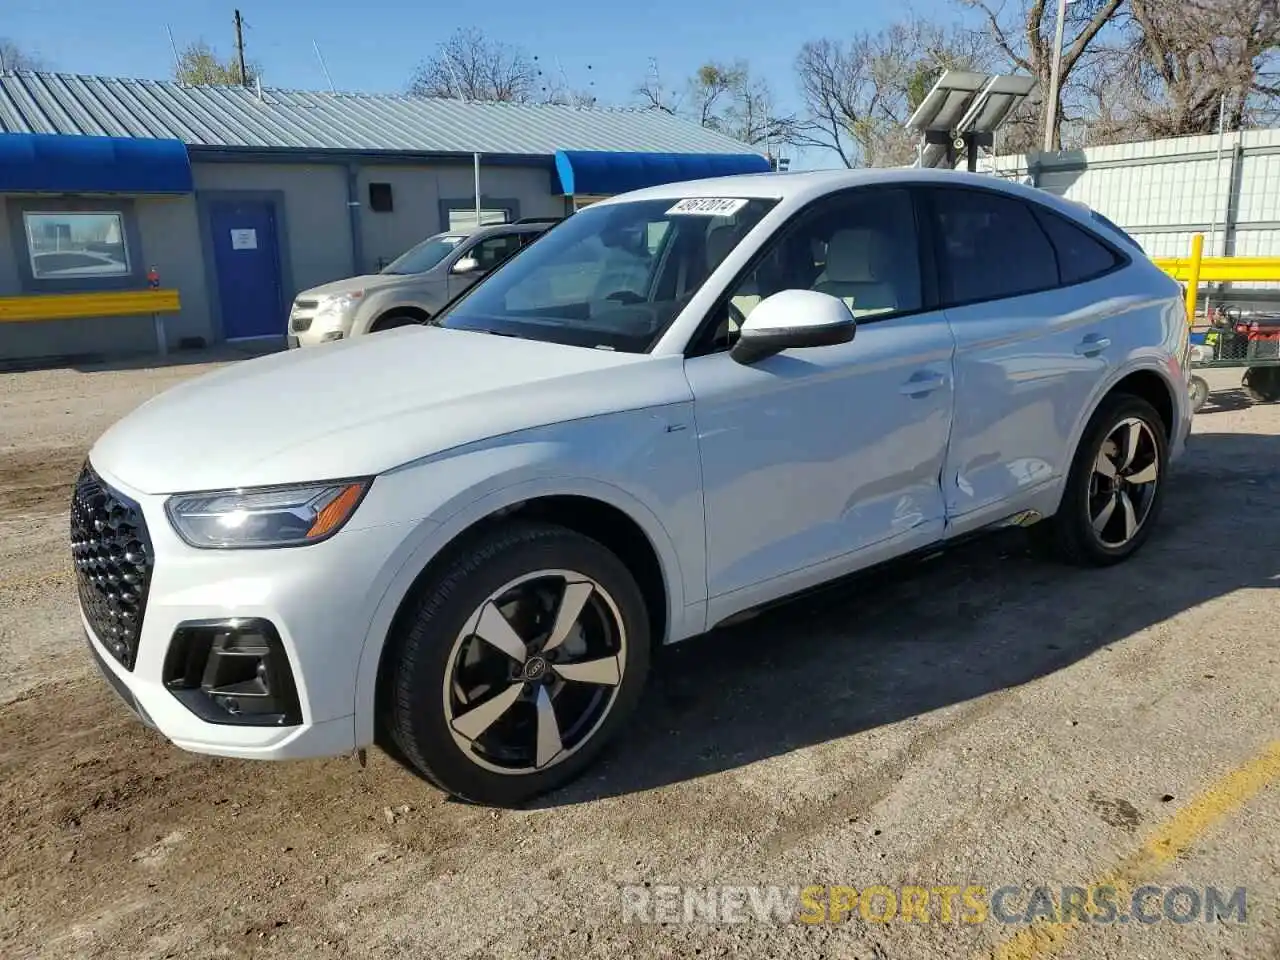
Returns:
[[[636,95],[646,106],[686,115],[708,129],[751,146],[790,142],[796,125],[795,116],[777,110],[768,82],[753,77],[744,60],[709,60],[675,92],[663,87],[654,68],[636,87]]]

